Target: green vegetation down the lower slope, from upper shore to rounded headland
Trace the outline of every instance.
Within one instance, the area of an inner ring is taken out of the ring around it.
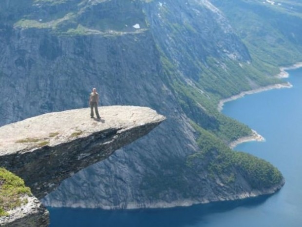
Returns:
[[[180,30],[175,24],[171,26],[174,33]],[[188,188],[191,183],[184,177],[188,172],[196,176],[205,173],[208,178],[220,179],[228,186],[233,186],[236,182],[238,170],[245,174],[246,180],[255,189],[269,188],[281,183],[282,174],[273,165],[254,156],[234,152],[227,146],[228,143],[241,137],[250,136],[252,131],[248,126],[217,110],[217,104],[221,99],[257,86],[283,83],[280,79],[268,76],[277,74],[278,67],[264,63],[258,58],[252,63],[238,64],[238,61],[224,60],[222,62],[221,59],[208,57],[207,66],[202,62],[197,63],[201,69],[199,77],[192,79],[194,80],[192,83],[186,83],[179,76],[179,69],[172,60],[165,56],[160,46],[157,48],[161,53],[165,78],[172,85],[182,110],[191,119],[191,125],[199,133],[197,144],[200,152],[189,155],[186,163],[171,160],[170,163],[178,164],[168,175],[169,170],[165,169],[158,170],[158,173],[147,174],[143,182],[151,183],[152,188],[147,188],[148,184],[142,183],[142,189],[150,197],[163,196],[164,191],[171,189],[178,191],[184,198],[189,198],[188,196],[193,196],[194,192]],[[190,58],[186,52],[182,54],[185,58]],[[190,195],[186,194],[187,190],[190,191]],[[199,190],[202,191],[202,187]],[[198,196],[198,190],[196,191]]]

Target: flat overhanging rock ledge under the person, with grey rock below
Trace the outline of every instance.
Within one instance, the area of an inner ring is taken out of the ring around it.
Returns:
[[[0,166],[21,177],[41,199],[64,179],[108,158],[116,149],[146,135],[165,120],[147,107],[108,106],[100,107],[99,112],[101,119],[91,119],[90,109],[84,108],[0,127]],[[11,212],[15,218],[0,221],[22,226],[17,223],[28,223],[36,220],[36,215],[42,213],[44,217],[47,213],[32,197],[21,210]]]

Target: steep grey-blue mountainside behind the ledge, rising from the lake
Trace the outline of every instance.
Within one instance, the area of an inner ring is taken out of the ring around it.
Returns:
[[[45,204],[189,205],[272,193],[283,185],[276,168],[227,147],[252,132],[218,112],[217,104],[281,83],[272,77],[278,66],[302,59],[300,31],[294,30],[301,15],[262,1],[238,2],[238,11],[236,0],[0,2],[0,124],[84,107],[92,87],[102,105],[149,106],[167,116],[156,133],[79,172]],[[278,48],[270,39],[252,45],[256,26],[247,29],[248,21],[232,18],[249,6],[256,9],[246,20],[259,21],[260,31],[271,19],[263,12],[275,15],[280,26],[271,25],[269,34],[280,35]],[[291,36],[279,16],[296,24]],[[283,61],[282,50],[293,57]]]

